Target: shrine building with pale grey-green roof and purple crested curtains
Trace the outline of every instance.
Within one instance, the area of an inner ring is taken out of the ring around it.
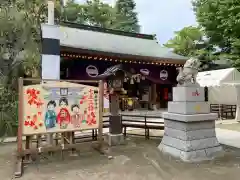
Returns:
[[[153,35],[68,22],[42,25],[42,43],[43,79],[93,80],[118,64],[125,72],[140,74],[123,80],[122,110],[129,98],[136,104],[133,109],[166,108],[177,84],[176,68],[187,60],[159,45]]]

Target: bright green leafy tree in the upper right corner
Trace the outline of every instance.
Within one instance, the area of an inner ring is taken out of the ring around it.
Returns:
[[[197,21],[220,55],[240,67],[240,1],[194,0]]]

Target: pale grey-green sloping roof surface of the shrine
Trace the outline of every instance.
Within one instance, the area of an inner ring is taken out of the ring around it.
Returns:
[[[136,55],[156,59],[174,59],[185,61],[187,58],[171,52],[168,48],[160,46],[151,35],[129,33],[102,28],[80,25],[60,26],[61,46],[94,50],[101,52]],[[135,37],[134,37],[135,35]]]

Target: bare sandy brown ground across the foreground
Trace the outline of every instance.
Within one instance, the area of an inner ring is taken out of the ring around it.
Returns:
[[[29,164],[20,180],[237,180],[240,149],[225,148],[225,156],[200,164],[183,163],[162,155],[156,148],[160,139],[128,138],[126,145],[111,149],[113,159],[89,146],[80,146],[79,156],[64,159],[59,154]],[[0,146],[0,175],[12,179],[15,144]]]

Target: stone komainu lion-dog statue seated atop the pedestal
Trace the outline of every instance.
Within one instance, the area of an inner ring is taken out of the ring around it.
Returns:
[[[196,85],[196,76],[198,74],[201,62],[197,58],[190,58],[186,61],[183,68],[178,68],[177,76],[178,85],[191,86]]]

